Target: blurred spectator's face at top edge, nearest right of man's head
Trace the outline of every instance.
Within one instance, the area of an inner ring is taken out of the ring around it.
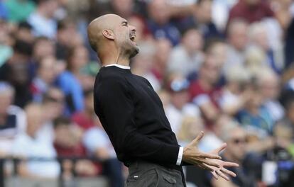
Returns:
[[[148,5],[149,16],[160,25],[168,23],[170,19],[170,13],[168,11],[165,0],[153,0]]]

